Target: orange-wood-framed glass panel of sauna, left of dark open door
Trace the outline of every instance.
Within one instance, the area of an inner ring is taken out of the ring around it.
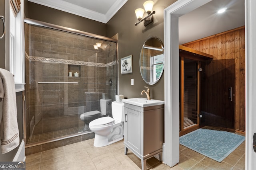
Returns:
[[[180,134],[199,125],[198,61],[180,57]]]

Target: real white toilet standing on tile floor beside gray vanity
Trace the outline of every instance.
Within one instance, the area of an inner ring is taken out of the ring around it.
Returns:
[[[111,117],[101,117],[89,123],[95,133],[94,147],[104,147],[124,139],[124,103],[112,102]]]

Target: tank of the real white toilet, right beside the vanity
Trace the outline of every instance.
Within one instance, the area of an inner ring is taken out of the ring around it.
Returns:
[[[124,121],[124,103],[112,102],[112,116],[117,121]]]

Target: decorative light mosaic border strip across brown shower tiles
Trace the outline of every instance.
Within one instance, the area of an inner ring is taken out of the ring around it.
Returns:
[[[108,66],[112,66],[112,65],[116,64],[116,61],[112,61],[110,63],[104,64],[104,63],[92,63],[92,62],[86,62],[86,61],[74,61],[74,60],[44,58],[44,57],[33,57],[33,56],[28,56],[27,53],[26,53],[26,58],[29,61],[42,61],[42,62],[59,63],[59,64],[76,64],[76,65],[97,66],[97,67],[108,67]]]

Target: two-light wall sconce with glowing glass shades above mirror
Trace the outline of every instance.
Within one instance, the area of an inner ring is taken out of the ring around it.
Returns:
[[[153,14],[155,14],[156,12],[152,11],[154,2],[152,0],[148,0],[146,2],[144,2],[143,6],[145,8],[146,13],[148,14],[145,18],[142,19],[143,14],[144,14],[144,10],[142,8],[138,8],[135,10],[135,14],[137,19],[139,20],[137,23],[135,23],[135,25],[138,25],[139,23],[141,23],[142,21],[144,21],[144,26],[146,27],[148,24],[153,22]]]

